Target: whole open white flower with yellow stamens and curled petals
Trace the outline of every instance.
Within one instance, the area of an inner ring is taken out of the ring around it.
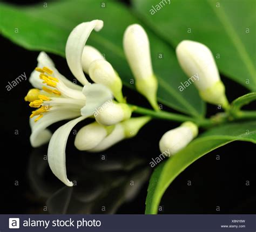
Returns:
[[[38,108],[31,114],[31,136],[33,147],[49,143],[48,162],[52,172],[63,183],[72,186],[66,176],[65,147],[71,129],[79,122],[90,117],[95,109],[112,99],[112,92],[102,84],[90,84],[82,70],[84,45],[91,31],[100,30],[103,22],[94,20],[82,23],[70,33],[66,43],[66,60],[73,75],[84,87],[73,84],[60,74],[52,60],[41,52],[37,58],[38,67],[31,73],[30,83],[37,89],[29,91],[25,100],[30,106]],[[85,49],[86,51],[86,49]],[[94,58],[99,58],[95,56]],[[93,62],[93,57],[86,58],[85,67]],[[75,119],[73,119],[75,118]],[[53,135],[46,129],[54,122],[73,119],[59,127]]]

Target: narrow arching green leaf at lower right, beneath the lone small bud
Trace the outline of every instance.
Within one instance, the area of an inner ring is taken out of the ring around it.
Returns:
[[[157,214],[165,190],[172,181],[201,156],[235,140],[256,143],[256,121],[227,124],[201,134],[187,147],[158,165],[154,170],[146,198],[146,214]]]

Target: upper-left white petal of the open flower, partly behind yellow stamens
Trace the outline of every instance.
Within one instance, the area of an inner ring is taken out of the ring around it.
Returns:
[[[66,86],[68,86],[69,88],[72,88],[73,90],[80,90],[80,91],[83,89],[82,86],[72,83],[72,81],[66,79],[62,74],[60,74],[58,72],[58,70],[56,69],[54,63],[52,62],[51,58],[45,52],[39,53],[39,55],[37,57],[37,62],[38,62],[38,64],[37,64],[38,67],[41,67],[41,68],[43,68],[45,66],[49,67],[49,69],[51,69],[53,71],[52,76],[58,78],[59,80],[62,80],[63,83]],[[39,72],[34,70],[30,75],[29,81],[33,87],[42,89],[43,81],[39,78]]]

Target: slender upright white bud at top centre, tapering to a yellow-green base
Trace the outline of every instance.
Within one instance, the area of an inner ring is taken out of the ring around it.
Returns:
[[[152,70],[149,38],[142,26],[133,24],[125,30],[123,46],[137,90],[155,110],[159,110],[156,97],[158,83]]]

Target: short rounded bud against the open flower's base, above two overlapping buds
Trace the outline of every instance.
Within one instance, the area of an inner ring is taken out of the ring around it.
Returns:
[[[99,124],[110,126],[131,117],[131,108],[124,103],[111,103],[100,106],[94,116]]]

